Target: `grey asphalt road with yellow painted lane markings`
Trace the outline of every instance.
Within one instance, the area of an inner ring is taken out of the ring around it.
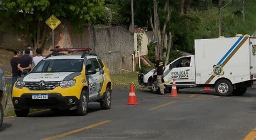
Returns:
[[[0,139],[244,139],[256,127],[256,90],[242,97],[180,90],[178,98],[136,91],[139,105],[125,105],[128,89],[114,89],[112,108],[89,104],[86,116],[43,112],[4,119]]]

